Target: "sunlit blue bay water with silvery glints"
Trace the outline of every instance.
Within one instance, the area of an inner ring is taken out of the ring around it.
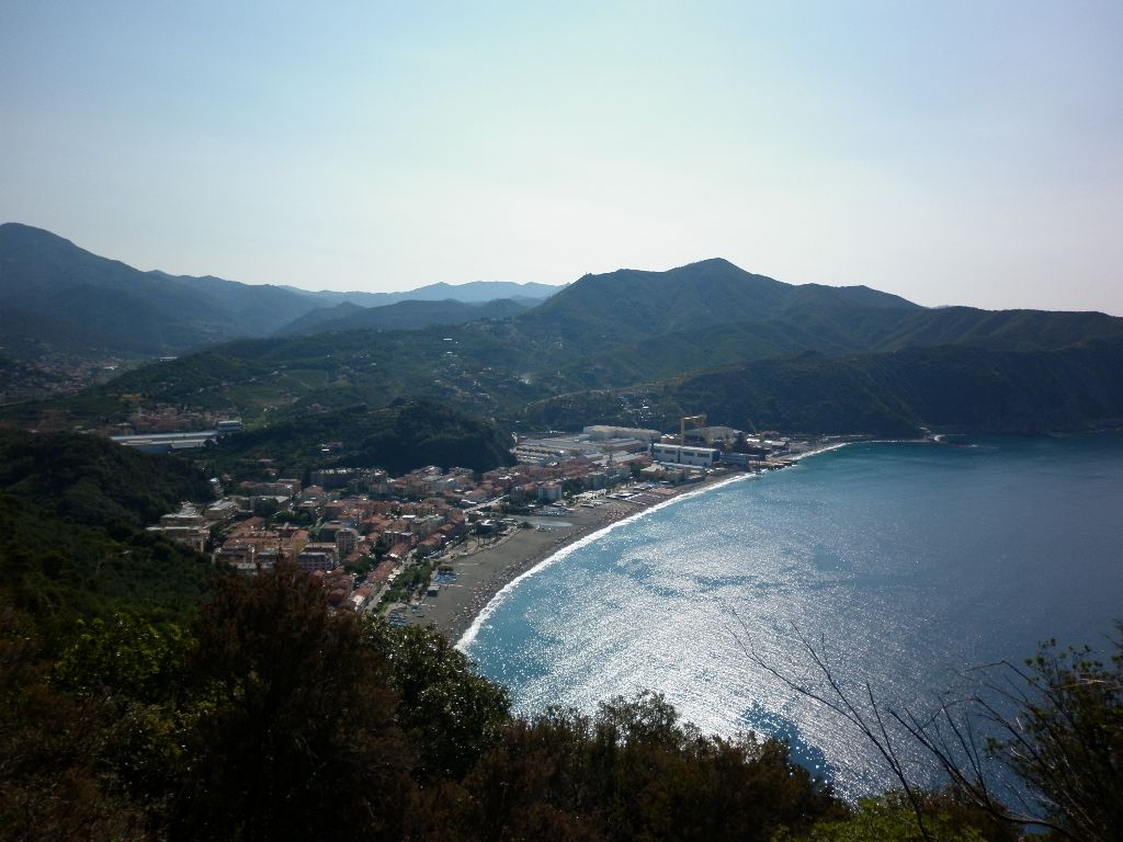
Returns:
[[[852,445],[617,524],[509,586],[460,642],[515,708],[655,689],[703,731],[778,734],[846,795],[893,784],[815,681],[929,710],[1040,641],[1123,619],[1123,437]],[[907,751],[906,751],[907,753]]]

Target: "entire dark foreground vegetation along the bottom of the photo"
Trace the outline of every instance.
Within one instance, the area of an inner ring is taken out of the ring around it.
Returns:
[[[896,794],[850,811],[785,744],[703,736],[657,694],[512,717],[444,638],[330,615],[292,569],[223,579],[190,635],[82,623],[53,662],[0,620],[6,838],[1014,840],[955,793],[920,795],[923,833]],[[1047,648],[992,747],[1074,838],[1117,838],[1119,674]]]

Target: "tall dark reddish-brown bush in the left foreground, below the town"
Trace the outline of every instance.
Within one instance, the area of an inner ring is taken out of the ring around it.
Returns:
[[[174,839],[396,839],[409,790],[386,665],[292,567],[230,578],[195,625]]]

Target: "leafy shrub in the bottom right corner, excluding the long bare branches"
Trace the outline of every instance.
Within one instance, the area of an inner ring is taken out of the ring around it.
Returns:
[[[1022,666],[980,670],[978,692],[937,714],[898,720],[975,803],[1068,839],[1123,839],[1123,625],[1111,663],[1087,647],[1041,646]],[[978,734],[989,734],[979,747]],[[983,757],[1024,785],[1020,809],[995,796]]]

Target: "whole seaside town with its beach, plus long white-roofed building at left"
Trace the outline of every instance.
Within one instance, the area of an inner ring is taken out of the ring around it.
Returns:
[[[746,472],[785,467],[812,445],[724,427],[678,436],[610,425],[523,436],[515,464],[477,474],[427,466],[323,468],[264,479],[214,477],[216,500],[184,503],[149,531],[253,575],[287,562],[318,579],[331,611],[384,613],[450,640],[506,583],[564,546],[674,496]],[[202,447],[237,432],[115,437],[148,451]]]

